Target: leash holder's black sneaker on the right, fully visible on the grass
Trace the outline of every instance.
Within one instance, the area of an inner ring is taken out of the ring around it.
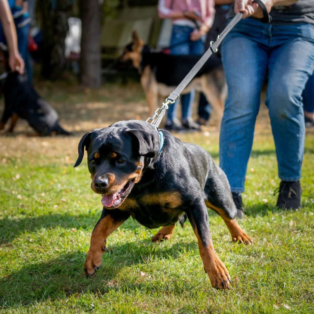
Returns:
[[[278,195],[276,206],[283,209],[297,209],[301,207],[301,185],[300,181],[281,181],[279,187],[274,191]]]

